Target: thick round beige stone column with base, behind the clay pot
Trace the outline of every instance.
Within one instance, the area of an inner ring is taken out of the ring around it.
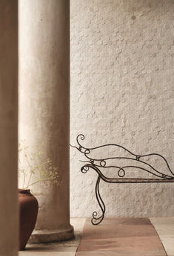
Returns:
[[[33,186],[39,216],[30,241],[69,239],[69,0],[19,0],[19,53],[19,140],[31,153],[42,150],[43,161],[51,158],[61,181]]]

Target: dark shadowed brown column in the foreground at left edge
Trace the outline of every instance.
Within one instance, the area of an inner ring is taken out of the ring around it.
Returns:
[[[18,1],[0,1],[0,255],[18,252]]]

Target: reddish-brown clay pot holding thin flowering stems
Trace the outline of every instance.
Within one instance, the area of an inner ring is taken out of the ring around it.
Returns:
[[[36,225],[38,201],[30,190],[19,189],[19,251],[24,250]]]

